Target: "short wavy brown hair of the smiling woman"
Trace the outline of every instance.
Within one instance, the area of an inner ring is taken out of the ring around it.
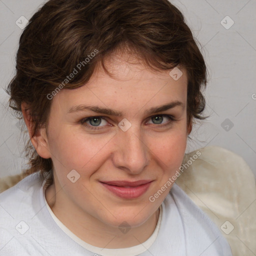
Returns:
[[[9,106],[22,118],[21,102],[26,102],[34,133],[47,128],[52,101],[47,95],[57,87],[82,86],[98,63],[108,73],[103,60],[125,47],[152,70],[182,65],[188,76],[187,122],[206,118],[200,114],[205,106],[201,89],[206,85],[206,66],[182,13],[168,0],[49,0],[20,36],[16,75],[7,88]],[[74,68],[77,74],[66,80]],[[49,174],[50,184],[51,159],[40,157],[30,139],[25,152],[26,174],[40,170],[43,178]]]

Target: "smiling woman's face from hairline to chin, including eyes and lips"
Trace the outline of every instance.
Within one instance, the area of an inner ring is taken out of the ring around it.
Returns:
[[[105,62],[114,77],[99,67],[85,85],[60,90],[46,138],[64,203],[111,226],[138,226],[157,210],[172,184],[149,198],[178,170],[188,135],[185,70],[174,80],[127,58]]]

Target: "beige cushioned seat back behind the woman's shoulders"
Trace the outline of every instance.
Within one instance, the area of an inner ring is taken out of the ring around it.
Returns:
[[[0,178],[0,192],[23,177]],[[176,183],[219,227],[233,256],[256,255],[255,178],[239,155],[218,146],[185,154]]]

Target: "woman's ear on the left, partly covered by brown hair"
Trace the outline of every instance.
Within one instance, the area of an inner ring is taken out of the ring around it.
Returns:
[[[21,111],[26,123],[26,127],[28,129],[31,143],[34,146],[36,152],[43,158],[50,158],[51,155],[48,145],[48,138],[46,135],[46,129],[38,128],[38,130],[32,136],[34,121],[32,119],[32,115],[30,114],[29,105],[25,102],[22,102]]]

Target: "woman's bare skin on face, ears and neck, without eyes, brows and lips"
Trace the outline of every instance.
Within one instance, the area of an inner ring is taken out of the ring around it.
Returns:
[[[130,61],[132,60],[132,61]],[[91,79],[76,89],[62,89],[52,99],[47,133],[41,128],[31,137],[37,153],[53,161],[54,183],[45,197],[57,218],[79,238],[94,246],[124,248],[144,242],[153,233],[159,206],[169,189],[156,193],[180,166],[191,124],[186,122],[187,75],[173,80],[169,71],[153,71],[126,53],[112,54],[105,62],[110,77],[98,66]],[[178,100],[160,112],[152,107]],[[83,110],[68,113],[79,105],[95,105],[122,112],[120,116]],[[27,105],[22,112],[31,135],[32,121]],[[154,123],[153,115],[162,116]],[[104,116],[101,126],[82,119]],[[118,123],[126,118],[131,127],[122,131]],[[165,126],[163,125],[165,124]],[[86,126],[87,125],[87,126]],[[67,174],[75,169],[80,178],[72,183]],[[138,198],[122,199],[107,190],[99,180],[153,180]],[[118,226],[126,221],[131,229],[122,233]]]

